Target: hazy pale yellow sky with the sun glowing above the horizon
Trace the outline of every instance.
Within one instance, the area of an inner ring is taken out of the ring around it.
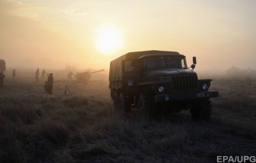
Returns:
[[[0,0],[8,67],[108,69],[127,52],[197,57],[196,70],[256,69],[255,0]]]

